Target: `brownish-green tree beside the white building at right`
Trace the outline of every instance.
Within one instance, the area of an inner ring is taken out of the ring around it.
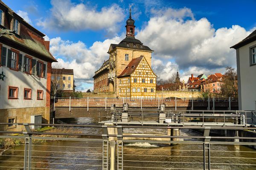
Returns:
[[[224,97],[238,97],[237,73],[235,68],[226,68],[226,72],[222,77],[221,94]]]

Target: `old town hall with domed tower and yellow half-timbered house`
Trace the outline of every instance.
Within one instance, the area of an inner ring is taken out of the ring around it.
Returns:
[[[151,69],[153,50],[135,39],[131,9],[125,27],[125,39],[110,45],[109,59],[93,76],[94,92],[115,92],[116,97],[155,98],[157,76]]]

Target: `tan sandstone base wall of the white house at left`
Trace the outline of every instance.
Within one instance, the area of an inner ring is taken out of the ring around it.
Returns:
[[[35,108],[14,108],[0,109],[1,122],[8,123],[8,119],[15,119],[15,123],[30,123],[30,116],[42,115],[42,123],[49,123],[50,107],[35,107]],[[1,131],[26,131],[23,125],[0,125]]]

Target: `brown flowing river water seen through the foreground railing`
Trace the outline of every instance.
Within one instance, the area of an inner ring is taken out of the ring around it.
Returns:
[[[61,119],[69,124],[98,125],[96,116]],[[76,127],[82,133],[99,134],[101,128]],[[125,133],[163,134],[161,129],[124,129]],[[201,136],[194,130],[181,130],[182,136]],[[198,139],[185,139],[196,142]],[[211,169],[255,170],[256,150],[242,145],[211,145]],[[24,145],[12,147],[0,156],[1,170],[23,168]],[[54,141],[33,144],[32,167],[34,169],[101,170],[102,142],[100,141]],[[203,169],[203,146],[201,144],[177,144],[130,142],[123,146],[124,170],[171,170]],[[4,156],[3,156],[4,155]],[[243,165],[239,165],[243,164]],[[16,168],[14,168],[16,167]]]

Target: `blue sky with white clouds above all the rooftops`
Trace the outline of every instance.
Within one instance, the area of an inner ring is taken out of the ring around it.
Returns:
[[[92,89],[108,47],[125,38],[129,8],[136,38],[154,50],[152,68],[168,79],[177,70],[224,73],[236,67],[229,49],[256,29],[256,0],[3,0],[47,35],[58,67],[73,68],[77,90]]]

